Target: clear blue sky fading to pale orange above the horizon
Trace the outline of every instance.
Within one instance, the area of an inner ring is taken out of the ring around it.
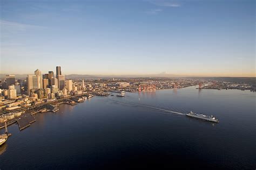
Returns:
[[[2,74],[255,76],[255,1],[0,3]]]

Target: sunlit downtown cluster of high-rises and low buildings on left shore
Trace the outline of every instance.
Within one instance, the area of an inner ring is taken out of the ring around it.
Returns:
[[[65,80],[60,66],[56,74],[42,74],[36,69],[26,79],[16,80],[15,75],[6,75],[0,83],[0,112],[29,107],[48,101],[84,93],[84,80],[80,83]]]

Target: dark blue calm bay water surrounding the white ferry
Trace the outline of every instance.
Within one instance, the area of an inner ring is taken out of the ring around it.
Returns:
[[[255,99],[188,87],[61,105],[21,132],[8,127],[0,169],[255,169]],[[220,123],[186,117],[190,110]]]

